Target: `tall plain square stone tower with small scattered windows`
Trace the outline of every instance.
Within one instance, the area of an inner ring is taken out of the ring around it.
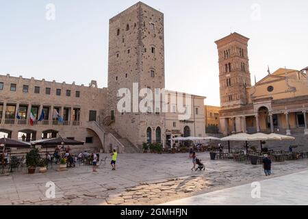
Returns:
[[[147,140],[164,143],[162,112],[155,112],[155,109],[147,113],[117,110],[120,88],[131,92],[131,110],[133,95],[136,95],[133,94],[133,83],[138,83],[139,90],[151,89],[153,95],[155,88],[165,88],[164,14],[138,2],[111,18],[109,30],[108,101],[114,120],[112,128],[135,146],[140,147]],[[139,97],[138,103],[141,99]]]

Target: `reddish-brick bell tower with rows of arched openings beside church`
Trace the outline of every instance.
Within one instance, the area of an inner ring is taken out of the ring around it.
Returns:
[[[234,32],[215,42],[219,55],[220,105],[223,109],[247,104],[246,88],[251,86],[248,40]]]

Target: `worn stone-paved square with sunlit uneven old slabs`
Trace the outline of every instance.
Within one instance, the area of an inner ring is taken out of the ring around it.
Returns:
[[[200,153],[205,171],[192,172],[187,154],[121,154],[112,171],[109,155],[98,172],[78,166],[66,172],[14,173],[0,177],[0,205],[157,205],[179,198],[266,179],[262,166],[210,161]],[[308,159],[274,163],[272,177],[308,168]],[[55,183],[55,198],[46,198],[46,183]]]

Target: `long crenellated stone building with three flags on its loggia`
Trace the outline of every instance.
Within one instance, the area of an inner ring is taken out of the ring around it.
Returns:
[[[88,121],[99,121],[107,107],[107,88],[75,83],[25,79],[0,75],[0,133],[22,140],[39,140],[63,136],[86,142],[86,148],[103,148],[97,133],[88,128]],[[30,125],[30,113],[34,125]],[[44,110],[44,119],[38,121]],[[60,123],[53,116],[62,117]],[[3,138],[3,136],[0,136]]]

